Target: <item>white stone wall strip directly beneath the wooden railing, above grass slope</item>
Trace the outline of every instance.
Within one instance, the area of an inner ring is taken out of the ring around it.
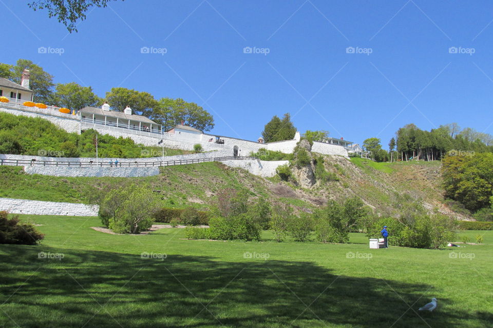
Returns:
[[[138,177],[159,175],[158,167],[148,168],[70,168],[70,167],[42,167],[26,166],[24,171],[28,174],[41,174],[50,176],[113,176],[113,177]]]

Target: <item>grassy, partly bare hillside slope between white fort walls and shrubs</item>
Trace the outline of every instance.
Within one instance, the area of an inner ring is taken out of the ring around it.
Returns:
[[[219,162],[164,167],[158,176],[137,178],[50,177],[27,175],[20,167],[0,167],[0,197],[94,203],[110,189],[136,183],[161,195],[163,205],[170,207],[211,208],[219,190],[235,188],[247,190],[252,197],[266,197],[271,203],[291,204],[296,211],[311,212],[329,199],[358,196],[377,213],[386,213],[392,209],[395,194],[409,193],[421,198],[429,210],[468,219],[443,203],[438,161],[375,163],[324,156],[324,165],[334,179],[317,181],[310,189],[281,181],[277,176],[254,176]]]

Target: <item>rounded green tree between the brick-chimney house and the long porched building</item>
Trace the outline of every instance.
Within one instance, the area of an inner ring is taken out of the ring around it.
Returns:
[[[92,92],[91,87],[82,87],[75,82],[57,85],[53,98],[56,105],[70,110],[98,106],[101,103],[101,99]]]

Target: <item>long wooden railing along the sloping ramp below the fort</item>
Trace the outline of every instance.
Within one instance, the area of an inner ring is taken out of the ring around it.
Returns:
[[[241,160],[241,159],[258,159],[252,156],[223,156],[223,157],[208,157],[208,158],[196,158],[196,159],[177,159],[177,160],[165,160],[165,161],[50,161],[50,160],[36,160],[36,159],[5,159],[0,158],[0,166],[43,166],[43,167],[73,167],[73,168],[91,168],[91,167],[122,167],[122,168],[142,168],[142,167],[159,167],[159,166],[174,166],[174,165],[187,165],[197,164],[212,161],[223,160]]]

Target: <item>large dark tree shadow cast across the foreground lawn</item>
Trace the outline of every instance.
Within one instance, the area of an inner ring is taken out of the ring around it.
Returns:
[[[64,258],[39,259],[40,251]],[[312,262],[142,259],[14,245],[2,245],[0,258],[2,327],[414,328],[464,320],[486,326],[491,320],[486,314],[472,317],[440,308],[420,317],[406,302],[418,301],[412,306],[416,310],[429,301],[431,286],[337,276]]]

